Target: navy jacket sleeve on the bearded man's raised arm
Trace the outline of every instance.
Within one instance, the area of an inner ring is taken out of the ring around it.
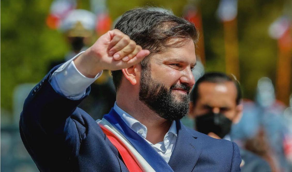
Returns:
[[[40,171],[48,171],[52,166],[65,169],[81,144],[82,133],[70,116],[82,99],[70,100],[55,92],[49,80],[58,67],[32,89],[20,115],[22,142]],[[90,87],[86,96],[89,92]]]

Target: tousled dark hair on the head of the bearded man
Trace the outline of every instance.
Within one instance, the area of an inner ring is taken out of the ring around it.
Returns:
[[[173,38],[190,38],[196,43],[199,32],[193,23],[172,15],[169,11],[154,11],[150,8],[134,8],[123,14],[115,25],[134,40],[142,49],[148,49],[150,55],[160,52],[163,45]],[[149,58],[141,61],[142,70],[148,66]],[[122,79],[122,71],[112,71],[112,78],[116,90],[119,88]]]

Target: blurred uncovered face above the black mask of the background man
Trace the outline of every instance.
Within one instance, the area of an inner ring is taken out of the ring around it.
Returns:
[[[233,82],[201,82],[198,94],[193,109],[194,117],[213,112],[223,114],[234,123],[238,120],[240,111],[236,104],[237,90]]]

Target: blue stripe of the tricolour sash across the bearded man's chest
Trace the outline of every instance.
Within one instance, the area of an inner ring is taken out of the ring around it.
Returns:
[[[167,162],[149,145],[149,143],[138,133],[132,130],[125,121],[112,108],[111,111],[104,115],[109,123],[111,123],[126,139],[133,145],[139,154],[152,166],[156,172],[173,172]]]

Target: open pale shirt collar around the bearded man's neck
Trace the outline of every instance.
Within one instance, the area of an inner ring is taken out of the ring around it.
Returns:
[[[114,110],[121,116],[121,118],[126,122],[126,124],[134,130],[136,133],[141,135],[143,138],[146,138],[147,135],[147,127],[140,123],[138,120],[136,120],[133,116],[125,112],[123,109],[121,109],[118,105],[117,102],[114,103]],[[142,132],[143,131],[143,132]],[[176,137],[178,136],[177,134],[177,129],[176,129],[176,122],[172,121],[171,126],[164,136],[164,141],[168,140],[168,137],[171,137],[172,135],[175,135]],[[168,144],[164,142],[164,145]]]

